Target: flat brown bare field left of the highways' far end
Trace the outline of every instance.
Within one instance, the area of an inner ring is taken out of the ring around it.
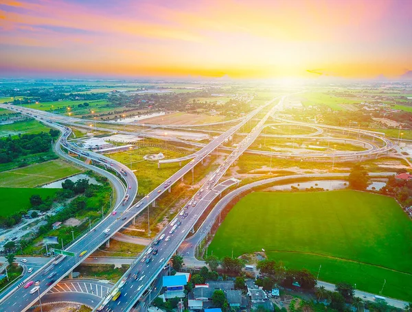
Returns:
[[[200,114],[187,114],[185,112],[173,112],[172,114],[168,115],[144,119],[141,122],[156,123],[159,125],[201,125],[203,123],[214,123],[224,120],[225,116],[210,116]]]

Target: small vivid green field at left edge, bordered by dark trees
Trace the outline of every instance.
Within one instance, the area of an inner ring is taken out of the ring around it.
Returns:
[[[0,215],[6,217],[18,211],[29,209],[30,196],[37,194],[42,198],[53,196],[57,189],[14,189],[0,187],[1,208]]]

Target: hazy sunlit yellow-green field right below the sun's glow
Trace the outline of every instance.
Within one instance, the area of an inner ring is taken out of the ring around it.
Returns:
[[[301,99],[303,106],[319,106],[323,104],[329,106],[332,110],[345,110],[345,107],[341,106],[341,104],[353,104],[362,101],[361,99],[355,100],[345,99],[345,97],[335,97],[321,92],[304,93],[302,95],[295,95],[294,97]]]

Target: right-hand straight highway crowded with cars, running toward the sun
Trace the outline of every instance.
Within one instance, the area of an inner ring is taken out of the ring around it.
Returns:
[[[215,187],[225,188],[225,185],[218,184],[218,186],[216,186],[216,183],[222,178],[236,158],[238,158],[253,143],[253,141],[255,141],[262,131],[266,120],[273,114],[273,112],[279,109],[279,106],[282,107],[283,100],[284,97],[280,99],[279,103],[273,105],[271,110],[269,110],[265,117],[260,120],[258,125],[251,130],[251,133],[238,144],[238,147],[236,147],[236,149],[227,157],[225,162],[212,173],[211,178],[207,180],[203,187],[201,187],[194,197],[192,197],[192,199],[185,205],[182,210],[183,215],[179,214],[172,220],[170,226],[163,228],[158,235],[158,237],[162,237],[162,239],[156,239],[152,245],[146,247],[146,250],[148,250],[148,248],[156,250],[156,255],[150,253],[151,249],[149,249],[149,254],[146,252],[137,259],[135,265],[130,267],[122,278],[122,283],[124,284],[122,289],[126,290],[122,290],[122,296],[116,301],[107,302],[106,300],[101,302],[100,307],[103,307],[103,311],[109,311],[110,309],[113,311],[130,311],[130,309],[132,309],[135,302],[141,297],[141,294],[149,287],[152,280],[156,278],[157,274],[163,269],[163,266],[169,261],[177,248],[179,248],[179,245],[182,243],[183,239],[185,239],[188,232],[192,230],[194,224],[196,224],[196,221],[206,210],[207,206],[209,206],[211,201],[220,194],[220,188],[215,189]],[[274,100],[269,101],[267,105],[272,104],[273,101]],[[253,115],[249,115],[247,119],[244,119],[242,124],[246,123],[251,117],[253,117]],[[237,125],[236,128],[239,129],[240,126],[241,125]],[[228,130],[225,132],[224,136],[219,136],[219,138],[221,138],[220,143],[225,141],[225,139],[232,133],[231,130]],[[213,145],[213,148],[217,146],[218,145]],[[205,154],[199,153],[197,158],[202,155],[205,156]],[[233,181],[228,182],[227,185],[231,185],[231,183],[233,183]],[[134,274],[139,274],[137,280],[133,278]],[[117,283],[117,285],[119,285],[119,283]],[[117,285],[113,287],[111,296],[119,290]]]

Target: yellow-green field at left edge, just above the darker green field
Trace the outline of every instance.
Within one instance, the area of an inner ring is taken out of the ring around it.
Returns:
[[[82,170],[78,167],[65,161],[51,160],[46,163],[0,172],[0,187],[37,187],[80,172]]]

